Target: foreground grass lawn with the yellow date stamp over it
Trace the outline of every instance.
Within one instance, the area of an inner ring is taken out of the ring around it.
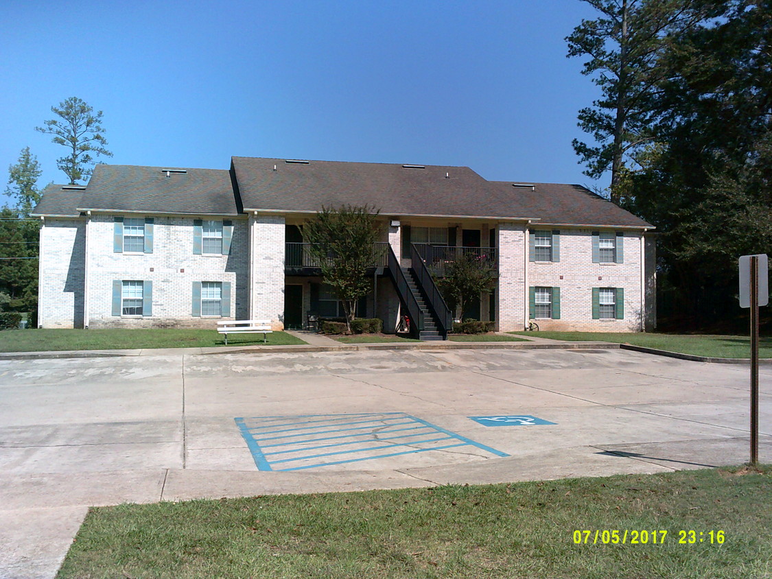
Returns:
[[[772,577],[770,500],[772,466],[100,507],[58,577]]]

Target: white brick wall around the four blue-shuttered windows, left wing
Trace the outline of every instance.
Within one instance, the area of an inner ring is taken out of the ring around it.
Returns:
[[[94,215],[88,231],[89,327],[216,327],[248,315],[247,222],[232,219],[229,256],[193,254],[193,218],[154,217],[152,253],[113,251],[113,215]],[[152,269],[152,271],[151,271]],[[151,316],[112,315],[113,279],[153,282]],[[230,282],[231,316],[192,315],[193,282]]]

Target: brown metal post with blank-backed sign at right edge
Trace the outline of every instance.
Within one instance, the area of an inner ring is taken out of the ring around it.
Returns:
[[[740,258],[740,307],[750,307],[750,463],[759,462],[759,306],[769,303],[767,254]]]

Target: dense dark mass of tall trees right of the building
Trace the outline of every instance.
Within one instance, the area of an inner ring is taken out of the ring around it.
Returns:
[[[772,252],[772,2],[584,1],[585,174],[657,227],[660,327],[732,329],[738,257]]]

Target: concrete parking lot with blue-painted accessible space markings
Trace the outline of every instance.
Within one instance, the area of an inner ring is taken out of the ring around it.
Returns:
[[[3,361],[0,576],[55,572],[88,505],[742,463],[748,383],[602,349]]]

